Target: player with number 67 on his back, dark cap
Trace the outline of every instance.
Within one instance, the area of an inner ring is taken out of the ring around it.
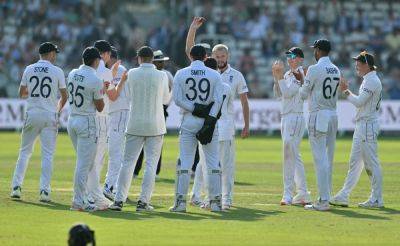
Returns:
[[[302,99],[308,98],[308,135],[317,173],[319,198],[305,209],[329,210],[332,186],[332,164],[335,151],[338,119],[336,104],[340,71],[329,59],[331,43],[326,39],[314,42],[317,64],[308,68],[300,88]]]

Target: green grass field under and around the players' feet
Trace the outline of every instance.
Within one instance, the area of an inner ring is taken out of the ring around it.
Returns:
[[[164,166],[152,199],[154,212],[136,213],[133,205],[123,212],[93,214],[69,211],[75,154],[66,134],[57,141],[51,204],[38,201],[40,147],[36,146],[22,187],[23,200],[9,198],[10,182],[18,156],[18,133],[0,133],[0,245],[66,245],[67,232],[76,222],[95,230],[98,245],[399,245],[400,244],[400,140],[379,142],[384,172],[384,209],[360,209],[357,202],[369,196],[366,173],[351,196],[350,208],[329,212],[281,207],[281,141],[254,137],[237,141],[234,205],[223,213],[189,207],[187,214],[173,214],[175,160],[178,138],[164,144]],[[351,139],[339,139],[333,172],[334,191],[347,172]],[[302,143],[307,181],[312,195],[316,181],[307,140]],[[105,171],[106,168],[103,169]],[[104,178],[104,175],[103,175]],[[136,198],[141,179],[134,180]]]

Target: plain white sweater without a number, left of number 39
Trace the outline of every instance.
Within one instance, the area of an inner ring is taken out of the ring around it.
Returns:
[[[127,134],[159,136],[167,132],[163,105],[168,103],[167,74],[153,64],[143,63],[130,69],[125,82],[130,95]]]

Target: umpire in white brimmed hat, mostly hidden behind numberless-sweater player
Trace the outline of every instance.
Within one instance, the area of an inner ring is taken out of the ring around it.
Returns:
[[[172,100],[171,97],[171,92],[172,92],[172,83],[174,80],[174,76],[172,76],[171,72],[165,69],[165,62],[169,61],[169,57],[165,56],[164,53],[161,50],[156,50],[154,51],[154,59],[153,59],[153,64],[156,66],[157,70],[163,71],[167,74],[168,76],[168,88],[169,88],[169,92],[170,92],[170,100],[168,102],[168,104],[164,105],[164,117],[165,120],[167,120],[168,117],[168,106]],[[134,176],[133,177],[137,177],[139,175],[140,169],[142,168],[142,163],[143,163],[143,150],[140,152],[140,156],[139,159],[136,163],[135,166],[135,171],[133,172]],[[157,171],[156,171],[156,177],[158,177],[158,175],[160,174],[161,171],[161,161],[162,159],[162,151],[161,151],[161,155],[160,155],[160,159],[158,160],[158,164],[157,164]]]

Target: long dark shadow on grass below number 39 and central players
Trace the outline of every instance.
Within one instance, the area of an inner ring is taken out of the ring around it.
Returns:
[[[193,211],[196,208],[190,209],[187,213],[172,213],[169,211],[155,210],[152,212],[133,212],[133,211],[98,211],[92,213],[94,216],[112,219],[125,219],[125,220],[144,220],[144,219],[176,219],[176,220],[204,220],[204,219],[215,219],[215,220],[237,220],[237,221],[256,221],[262,220],[265,217],[278,215],[285,212],[282,211],[264,211],[259,209],[251,209],[244,207],[234,207],[231,210],[223,212],[208,212],[203,211],[201,213]],[[200,208],[198,208],[199,211]]]

